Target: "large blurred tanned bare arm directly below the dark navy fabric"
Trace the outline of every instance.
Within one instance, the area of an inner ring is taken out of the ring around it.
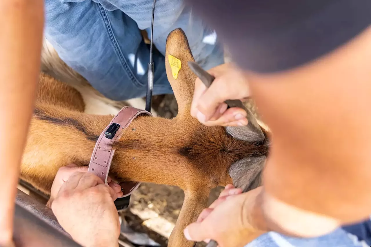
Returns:
[[[350,223],[370,213],[371,33],[316,63],[250,73],[259,112],[273,133],[267,193]],[[365,128],[362,128],[365,126]]]

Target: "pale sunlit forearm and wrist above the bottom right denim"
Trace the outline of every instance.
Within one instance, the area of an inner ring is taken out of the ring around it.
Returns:
[[[249,234],[249,241],[268,231],[292,237],[318,237],[339,227],[339,222],[333,218],[276,200],[266,193],[263,186],[247,192],[245,197],[242,209],[242,220],[245,221],[243,225],[255,229],[252,231],[255,234]]]

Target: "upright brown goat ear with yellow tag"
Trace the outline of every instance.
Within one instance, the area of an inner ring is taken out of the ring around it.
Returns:
[[[188,68],[194,61],[187,37],[182,29],[172,31],[166,40],[166,74],[178,103],[179,114],[190,111],[196,75]]]

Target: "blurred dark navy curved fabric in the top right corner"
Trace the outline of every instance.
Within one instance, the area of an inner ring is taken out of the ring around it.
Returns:
[[[351,40],[371,23],[371,0],[187,0],[243,69],[300,66]]]

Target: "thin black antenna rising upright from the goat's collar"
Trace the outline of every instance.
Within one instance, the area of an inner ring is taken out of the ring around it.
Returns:
[[[156,0],[152,4],[152,20],[151,20],[151,44],[150,44],[150,62],[148,63],[148,81],[147,81],[147,96],[145,97],[145,110],[151,112],[152,106],[152,92],[153,92],[153,77],[154,77],[154,63],[152,57],[153,46],[153,20],[155,18]]]

